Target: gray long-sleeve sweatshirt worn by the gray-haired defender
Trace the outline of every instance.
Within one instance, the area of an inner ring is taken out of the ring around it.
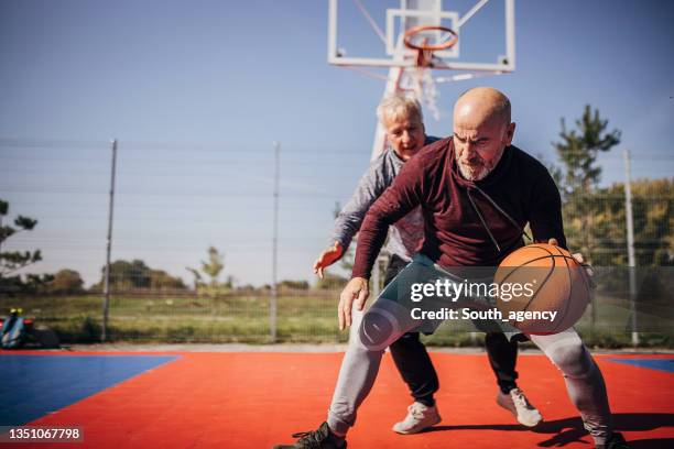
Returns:
[[[426,136],[424,145],[437,140],[438,138]],[[404,163],[390,147],[372,161],[368,171],[358,182],[356,191],[337,216],[330,244],[339,242],[346,253],[351,239],[360,229],[368,209],[393,183],[393,178],[398,176]],[[389,228],[389,241],[384,249],[390,254],[410,261],[418,250],[423,238],[424,218],[421,213],[421,207],[417,206]]]

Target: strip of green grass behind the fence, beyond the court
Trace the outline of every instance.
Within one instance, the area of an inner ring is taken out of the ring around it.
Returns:
[[[334,343],[347,341],[337,327],[335,292],[301,292],[282,295],[278,304],[279,342]],[[577,329],[586,344],[602,348],[631,346],[629,309],[611,298],[597,298],[595,322],[589,310]],[[102,297],[25,296],[1,297],[0,310],[22,307],[37,325],[52,328],[63,342],[96,342],[100,339]],[[115,296],[110,300],[110,341],[129,342],[270,342],[270,298],[265,295]],[[2,314],[3,315],[3,314]],[[638,315],[639,320],[653,316]],[[644,321],[641,321],[644,322]],[[668,322],[668,321],[664,321]],[[481,335],[471,335],[461,322],[445,322],[424,337],[432,346],[481,346]],[[674,348],[672,329],[641,335],[641,346]]]

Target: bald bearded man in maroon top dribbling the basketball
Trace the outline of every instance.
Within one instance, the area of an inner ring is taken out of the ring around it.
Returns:
[[[374,383],[384,349],[404,332],[434,325],[411,314],[405,303],[411,283],[458,284],[457,270],[498,266],[524,245],[528,223],[535,241],[566,247],[558,189],[540,162],[511,145],[514,129],[503,94],[488,87],[468,90],[455,103],[454,135],[410,160],[371,206],[360,228],[352,277],[340,296],[340,328],[350,326],[354,305],[365,307],[389,226],[417,206],[424,215],[424,243],[365,314],[359,338],[349,341],[326,423],[298,435],[294,445],[276,448],[346,448],[347,431]],[[442,305],[493,306],[488,298],[468,296]],[[563,373],[596,448],[628,448],[612,431],[601,372],[576,331],[530,338]]]

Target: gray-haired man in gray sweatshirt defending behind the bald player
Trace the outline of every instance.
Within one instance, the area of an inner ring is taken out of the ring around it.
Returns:
[[[314,264],[314,272],[323,276],[323,270],[338,261],[349,248],[351,239],[370,208],[381,194],[391,185],[403,164],[423,146],[438,139],[427,136],[423,124],[421,106],[416,100],[394,95],[384,98],[377,108],[377,117],[387,131],[390,150],[374,160],[358,183],[358,187],[337,220],[330,238],[331,245],[320,253]],[[384,275],[388,285],[412,260],[424,238],[424,218],[416,207],[395,225],[389,228],[387,251],[391,254]],[[486,347],[489,362],[497,376],[499,394],[497,402],[509,409],[519,423],[533,427],[542,420],[515,379],[518,342],[510,342],[503,333],[487,333]],[[414,399],[405,419],[396,423],[393,430],[399,434],[415,434],[441,421],[433,397],[438,390],[438,379],[420,341],[418,332],[407,332],[390,346],[391,355],[407,384]]]

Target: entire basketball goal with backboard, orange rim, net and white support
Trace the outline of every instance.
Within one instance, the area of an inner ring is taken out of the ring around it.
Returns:
[[[433,52],[411,48],[413,39]],[[436,83],[514,70],[514,0],[328,0],[327,59],[385,80],[384,96],[407,92],[439,120]],[[372,158],[384,150],[378,122]]]

